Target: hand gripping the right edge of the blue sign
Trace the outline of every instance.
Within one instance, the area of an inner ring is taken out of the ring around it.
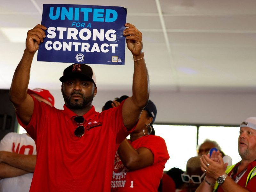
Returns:
[[[130,23],[125,23],[124,26],[127,27],[123,31],[123,35],[126,38],[127,48],[134,56],[140,55],[143,52],[142,33]]]

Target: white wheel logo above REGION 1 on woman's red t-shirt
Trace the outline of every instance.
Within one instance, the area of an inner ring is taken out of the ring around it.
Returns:
[[[122,161],[116,151],[115,161],[114,161],[113,179],[120,180],[122,178],[125,178],[127,172],[128,172],[128,169],[124,166],[124,164],[122,163]]]

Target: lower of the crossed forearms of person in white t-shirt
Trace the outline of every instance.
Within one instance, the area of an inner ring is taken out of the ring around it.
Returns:
[[[0,178],[9,178],[9,177],[17,177],[20,175],[27,174],[29,172],[24,171],[22,169],[12,167],[11,165],[0,163]]]

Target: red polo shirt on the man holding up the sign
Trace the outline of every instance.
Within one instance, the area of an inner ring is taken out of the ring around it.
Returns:
[[[30,123],[18,121],[36,142],[37,161],[30,191],[110,191],[116,145],[128,135],[122,106],[98,113],[94,107],[84,114],[85,133],[74,131],[77,116],[34,99]],[[134,128],[133,128],[134,129]]]

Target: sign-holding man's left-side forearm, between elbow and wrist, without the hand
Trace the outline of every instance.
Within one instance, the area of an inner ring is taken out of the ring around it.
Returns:
[[[14,72],[10,88],[10,100],[14,105],[19,105],[27,97],[29,74],[34,54],[25,50]]]

